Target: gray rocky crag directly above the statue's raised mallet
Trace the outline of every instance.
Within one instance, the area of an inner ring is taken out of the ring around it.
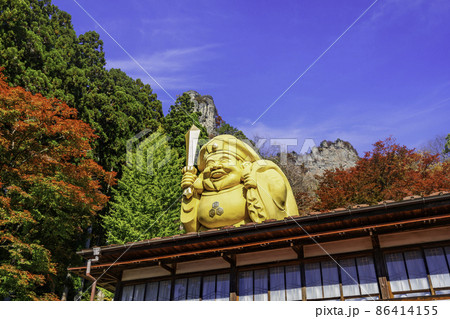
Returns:
[[[212,96],[200,95],[198,92],[192,90],[186,93],[189,94],[191,101],[194,103],[194,111],[201,113],[199,118],[200,124],[206,128],[208,134],[215,135],[217,108]]]

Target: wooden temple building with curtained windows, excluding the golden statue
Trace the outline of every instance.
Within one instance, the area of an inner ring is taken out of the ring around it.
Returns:
[[[115,300],[450,299],[450,193],[79,254]]]

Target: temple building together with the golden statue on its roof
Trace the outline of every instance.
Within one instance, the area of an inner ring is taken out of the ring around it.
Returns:
[[[186,234],[79,252],[91,300],[95,285],[129,301],[450,299],[450,193],[299,216],[282,170],[234,136],[195,162],[199,132],[186,134]]]

